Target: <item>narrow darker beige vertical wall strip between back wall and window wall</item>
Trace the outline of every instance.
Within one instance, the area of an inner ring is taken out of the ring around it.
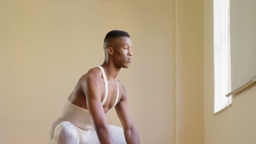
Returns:
[[[177,144],[204,142],[203,1],[177,1]]]

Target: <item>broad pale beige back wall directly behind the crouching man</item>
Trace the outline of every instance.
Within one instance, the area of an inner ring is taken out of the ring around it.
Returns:
[[[79,77],[103,62],[112,29],[129,32],[135,46],[119,79],[141,143],[175,142],[174,0],[2,0],[0,12],[0,143],[48,142]],[[114,114],[109,123],[120,125]]]

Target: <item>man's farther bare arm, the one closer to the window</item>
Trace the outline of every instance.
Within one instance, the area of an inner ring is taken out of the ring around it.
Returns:
[[[130,111],[127,105],[127,94],[125,87],[124,94],[122,95],[121,100],[115,106],[115,110],[117,111],[117,115],[121,121],[121,124],[124,129],[125,140],[127,144],[138,144],[139,136],[135,124],[132,121]]]

